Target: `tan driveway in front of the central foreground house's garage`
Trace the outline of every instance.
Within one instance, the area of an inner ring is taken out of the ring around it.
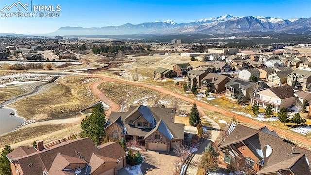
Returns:
[[[173,150],[168,153],[148,150],[141,154],[145,157],[141,165],[144,175],[173,175],[173,162],[178,159]]]

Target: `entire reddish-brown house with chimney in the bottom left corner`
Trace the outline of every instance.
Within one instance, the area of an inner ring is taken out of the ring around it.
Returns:
[[[12,175],[116,175],[127,154],[118,142],[95,146],[90,138],[69,140],[49,148],[20,146],[6,155]]]

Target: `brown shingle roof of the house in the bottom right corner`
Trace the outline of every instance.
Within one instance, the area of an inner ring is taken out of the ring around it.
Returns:
[[[311,163],[311,151],[291,144],[283,138],[240,124],[236,124],[236,127],[232,128],[233,130],[230,130],[228,137],[219,148],[222,149],[229,145],[235,145],[238,141],[246,143],[245,145],[250,148],[254,155],[263,159],[263,161],[259,159],[259,161],[263,162],[263,167],[258,173],[264,172],[266,169],[267,172],[273,171],[275,170],[273,166],[276,165],[278,166],[277,169],[289,169],[294,166],[306,167],[306,161],[297,162],[303,155],[308,157],[309,164]],[[267,151],[268,147],[272,148],[271,154]],[[294,148],[293,154],[292,148]],[[310,171],[308,173],[308,171],[304,170],[300,174],[310,175]]]

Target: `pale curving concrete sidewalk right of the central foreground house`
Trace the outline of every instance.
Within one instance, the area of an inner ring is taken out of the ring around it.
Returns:
[[[196,175],[196,173],[198,171],[198,168],[196,166],[196,162],[198,162],[198,160],[201,158],[202,153],[204,152],[204,149],[208,145],[208,143],[210,141],[212,141],[214,143],[215,140],[217,139],[218,135],[220,134],[219,125],[215,121],[213,121],[212,119],[207,117],[200,106],[197,106],[197,107],[198,107],[198,111],[200,112],[201,116],[203,116],[201,118],[201,120],[207,121],[212,126],[212,128],[205,126],[209,129],[211,129],[211,137],[210,137],[210,139],[206,139],[202,143],[197,144],[198,151],[194,152],[195,155],[194,155],[192,161],[190,162],[190,164],[188,166],[186,175]]]

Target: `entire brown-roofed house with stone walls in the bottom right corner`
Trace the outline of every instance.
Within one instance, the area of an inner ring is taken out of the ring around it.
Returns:
[[[279,137],[267,127],[258,130],[231,123],[218,148],[222,165],[235,165],[245,158],[256,175],[311,175],[311,151]]]

